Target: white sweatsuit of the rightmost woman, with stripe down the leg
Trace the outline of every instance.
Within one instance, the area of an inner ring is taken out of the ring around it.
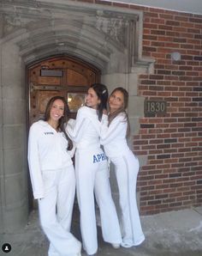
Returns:
[[[119,113],[108,127],[104,115],[101,127],[101,144],[114,163],[122,210],[122,247],[138,246],[145,240],[141,229],[140,215],[136,202],[136,183],[140,169],[138,158],[128,148],[126,140],[127,120],[125,113]]]

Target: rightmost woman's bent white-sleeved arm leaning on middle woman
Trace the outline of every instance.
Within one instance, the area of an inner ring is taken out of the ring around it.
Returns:
[[[104,117],[101,124],[100,143],[105,145],[112,142],[120,133],[126,131],[126,127],[127,121],[123,115],[113,119],[110,126],[108,126],[108,120]]]

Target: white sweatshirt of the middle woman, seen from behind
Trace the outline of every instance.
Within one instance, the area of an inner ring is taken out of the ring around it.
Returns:
[[[76,121],[73,122],[71,119],[66,131],[77,149],[99,148],[100,126],[97,110],[91,107],[80,107]]]

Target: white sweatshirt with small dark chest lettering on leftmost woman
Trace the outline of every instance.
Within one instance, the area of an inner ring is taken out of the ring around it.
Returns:
[[[73,164],[63,132],[56,132],[47,122],[39,120],[30,127],[28,164],[33,197],[44,198],[43,171],[65,168]]]

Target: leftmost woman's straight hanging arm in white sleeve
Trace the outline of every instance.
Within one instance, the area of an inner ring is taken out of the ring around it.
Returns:
[[[35,199],[45,197],[44,181],[39,163],[38,134],[36,127],[31,126],[28,137],[28,164]]]

